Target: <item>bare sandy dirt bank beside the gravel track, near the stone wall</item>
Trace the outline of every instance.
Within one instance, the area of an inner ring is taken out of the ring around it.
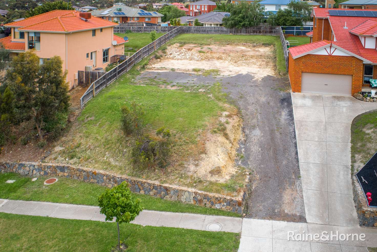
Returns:
[[[237,171],[234,159],[242,135],[242,119],[234,110],[233,114],[223,112],[218,121],[205,131],[199,142],[205,153],[187,165],[187,172],[195,177],[225,182]]]

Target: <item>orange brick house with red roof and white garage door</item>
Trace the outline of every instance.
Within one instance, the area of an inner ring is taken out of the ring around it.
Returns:
[[[377,11],[314,8],[311,42],[289,48],[292,91],[352,95],[377,78]]]

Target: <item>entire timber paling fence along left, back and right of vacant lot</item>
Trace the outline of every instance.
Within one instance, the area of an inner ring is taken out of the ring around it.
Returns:
[[[114,27],[114,32],[117,31],[116,28],[121,26]],[[99,77],[97,80],[92,82],[86,92],[81,96],[80,103],[81,108],[96,96],[103,88],[107,87],[111,82],[118,79],[122,74],[126,73],[132,66],[141,61],[144,57],[152,54],[156,49],[161,45],[164,45],[169,40],[173,39],[175,36],[181,33],[199,33],[199,34],[245,34],[245,35],[279,35],[282,42],[285,63],[288,71],[288,49],[287,43],[283,34],[283,31],[280,26],[253,26],[250,28],[243,29],[228,29],[222,26],[149,26],[149,27],[124,27],[132,32],[150,32],[155,30],[156,32],[167,32],[162,35],[152,43],[144,46],[139,49],[135,54],[130,56],[128,59],[124,60],[122,63],[117,65],[112,70],[105,72],[103,76]],[[204,29],[203,29],[204,28]],[[217,29],[214,29],[217,28]],[[204,32],[206,31],[206,32]],[[226,33],[228,31],[228,33]],[[98,72],[100,73],[100,72]]]

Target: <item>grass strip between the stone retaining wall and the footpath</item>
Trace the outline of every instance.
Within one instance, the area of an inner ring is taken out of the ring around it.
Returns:
[[[16,181],[7,184],[5,181],[8,179]],[[0,173],[0,198],[98,206],[98,196],[106,189],[106,187],[97,184],[60,177],[55,184],[44,186],[45,179],[47,177],[39,177],[37,181],[33,182],[30,177],[17,173]],[[241,216],[238,213],[194,206],[179,201],[167,201],[149,195],[135,193],[135,196],[141,199],[144,209],[147,210]]]

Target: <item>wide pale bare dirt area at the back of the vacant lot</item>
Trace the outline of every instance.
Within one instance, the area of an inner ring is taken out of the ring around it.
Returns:
[[[199,53],[198,51],[205,51]],[[200,63],[198,64],[198,61]],[[234,76],[237,74],[252,74],[255,79],[267,75],[275,75],[273,63],[273,48],[268,46],[241,45],[211,45],[199,48],[195,45],[180,47],[171,45],[166,50],[166,56],[150,64],[148,69],[166,69],[167,66],[176,71],[218,69],[219,74]],[[166,69],[167,70],[167,69]]]

